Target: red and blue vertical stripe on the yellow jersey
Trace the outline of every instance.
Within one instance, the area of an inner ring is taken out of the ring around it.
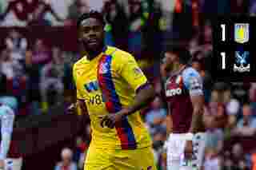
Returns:
[[[105,98],[106,109],[110,114],[117,113],[122,109],[122,104],[114,87],[114,81],[111,73],[111,63],[112,56],[103,55],[98,64],[98,85],[102,90],[102,96]],[[128,122],[127,117],[120,123],[116,124],[115,128],[118,132],[122,149],[137,148],[134,132]]]

